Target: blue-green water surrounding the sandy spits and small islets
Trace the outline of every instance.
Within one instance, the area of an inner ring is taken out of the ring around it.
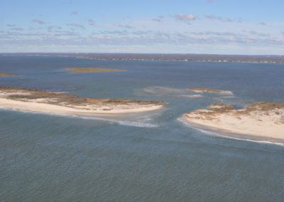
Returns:
[[[119,68],[70,74],[64,68]],[[284,102],[284,64],[1,56],[0,85],[87,97],[163,100],[124,117],[0,110],[0,201],[283,201],[284,145],[192,128],[214,102]],[[231,90],[204,95],[188,87]],[[284,133],[284,132],[283,132]]]

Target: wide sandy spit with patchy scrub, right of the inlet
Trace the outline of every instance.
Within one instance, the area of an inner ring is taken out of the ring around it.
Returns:
[[[241,110],[215,103],[183,116],[196,127],[284,140],[284,102],[254,102]]]

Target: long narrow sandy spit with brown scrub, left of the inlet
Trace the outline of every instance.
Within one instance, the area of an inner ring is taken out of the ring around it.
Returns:
[[[158,110],[160,101],[77,97],[62,92],[0,86],[0,108],[58,115],[119,115]]]

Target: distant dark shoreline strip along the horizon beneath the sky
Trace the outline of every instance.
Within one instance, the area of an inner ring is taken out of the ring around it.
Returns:
[[[212,63],[284,63],[284,55],[214,55],[150,53],[0,53],[1,56],[67,57],[90,60],[158,60]]]

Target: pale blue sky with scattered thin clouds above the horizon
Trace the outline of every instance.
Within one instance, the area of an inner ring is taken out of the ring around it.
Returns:
[[[284,55],[283,0],[1,0],[0,53]]]

